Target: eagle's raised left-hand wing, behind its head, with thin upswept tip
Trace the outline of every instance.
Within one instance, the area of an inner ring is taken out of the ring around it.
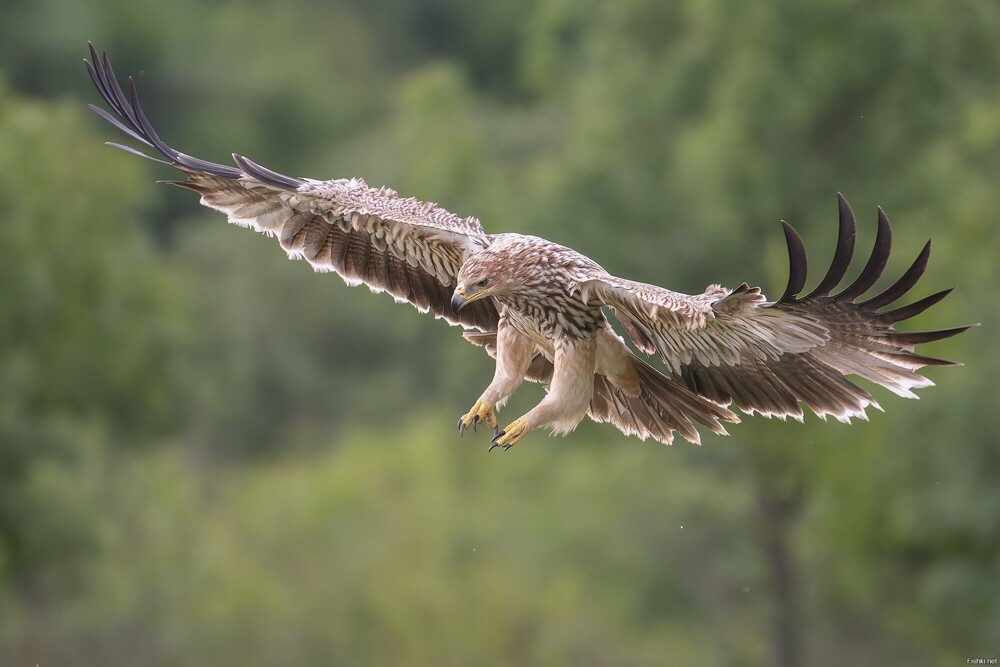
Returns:
[[[174,184],[200,194],[203,205],[222,211],[231,223],[276,236],[290,258],[304,259],[316,271],[333,271],[349,285],[389,292],[451,324],[496,330],[499,315],[491,299],[470,303],[457,314],[450,307],[462,263],[489,244],[477,219],[401,198],[388,188],[369,188],[360,179],[291,178],[239,155],[233,155],[236,166],[230,167],[180,153],[153,130],[132,79],[126,97],[107,53],[99,57],[93,44],[90,53],[93,61],[84,63],[110,110],[91,109],[187,174],[186,181]]]

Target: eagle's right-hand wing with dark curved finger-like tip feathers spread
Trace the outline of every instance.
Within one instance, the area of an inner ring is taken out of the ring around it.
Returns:
[[[954,336],[968,327],[899,332],[893,325],[922,313],[944,298],[944,290],[910,305],[883,310],[905,295],[927,267],[930,242],[909,270],[884,292],[856,301],[881,276],[889,259],[892,231],[879,209],[878,235],[868,264],[848,287],[841,282],[854,254],[855,219],[839,195],[840,235],[833,264],[808,295],[797,296],[806,280],[806,254],[799,235],[783,223],[790,277],[785,293],[767,302],[760,288],[735,290],[713,285],[688,296],[595,271],[574,288],[585,299],[613,309],[632,342],[659,354],[671,375],[690,389],[747,413],[802,419],[806,405],[821,417],[865,418],[872,396],[845,376],[857,375],[900,396],[933,383],[917,371],[953,362],[917,354],[919,343]]]

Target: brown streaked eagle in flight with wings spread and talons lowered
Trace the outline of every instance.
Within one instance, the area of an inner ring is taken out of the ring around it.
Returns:
[[[929,241],[894,284],[859,300],[889,259],[892,230],[881,208],[867,264],[838,289],[852,263],[856,230],[843,195],[833,261],[808,294],[801,295],[806,251],[786,222],[790,270],[776,301],[747,283],[682,294],[611,275],[542,238],[487,234],[474,217],[368,187],[360,178],[293,178],[241,155],[228,166],[181,153],[153,129],[131,77],[126,95],[107,53],[99,56],[90,44],[90,56],[84,64],[107,105],[91,109],[162,158],[110,145],[180,170],[186,179],[170,183],[195,191],[229,222],[277,237],[290,258],[337,273],[348,285],[388,292],[463,327],[467,340],[484,347],[496,359],[493,381],[459,418],[458,431],[485,424],[493,430],[490,450],[510,449],[535,429],[565,434],[584,417],[665,444],[675,432],[699,443],[696,424],[725,435],[724,422],[740,421],[733,407],[799,421],[804,407],[824,419],[867,419],[867,408],[881,407],[849,376],[916,398],[914,389],[933,384],[921,368],[954,362],[918,354],[915,346],[968,329],[894,328],[951,291],[893,305],[924,273]],[[640,354],[658,357],[662,370]],[[524,380],[545,385],[546,395],[500,428],[496,411]]]

